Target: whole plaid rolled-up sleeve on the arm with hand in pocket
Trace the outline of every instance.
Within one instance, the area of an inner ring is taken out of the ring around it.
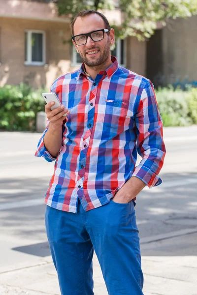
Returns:
[[[164,164],[163,122],[159,113],[154,86],[142,81],[136,100],[135,125],[137,152],[142,157],[132,176],[140,178],[149,188],[162,183],[158,177]]]

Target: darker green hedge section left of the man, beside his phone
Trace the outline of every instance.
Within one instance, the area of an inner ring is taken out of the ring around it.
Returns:
[[[35,131],[36,114],[44,111],[44,90],[33,91],[28,85],[0,88],[0,129]]]

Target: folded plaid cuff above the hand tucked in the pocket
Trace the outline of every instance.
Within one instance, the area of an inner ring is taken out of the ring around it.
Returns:
[[[145,166],[136,166],[132,176],[141,179],[149,188],[160,185],[163,182],[160,177]]]

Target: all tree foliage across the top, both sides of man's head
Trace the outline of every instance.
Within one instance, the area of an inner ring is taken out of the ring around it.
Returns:
[[[158,23],[165,26],[172,19],[197,14],[197,0],[55,0],[59,15],[69,15],[71,19],[84,9],[115,9],[117,2],[124,21],[121,28],[110,25],[120,38],[135,36],[145,40],[154,34]]]

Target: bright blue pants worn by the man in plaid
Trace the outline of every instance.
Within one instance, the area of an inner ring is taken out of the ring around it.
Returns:
[[[143,295],[134,202],[77,213],[46,206],[45,223],[62,295],[94,295],[95,250],[109,295]]]

